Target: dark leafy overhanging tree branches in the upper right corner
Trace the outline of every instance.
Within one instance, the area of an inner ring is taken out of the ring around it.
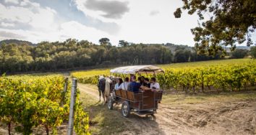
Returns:
[[[230,45],[234,50],[236,44],[245,41],[247,46],[253,44],[251,34],[256,28],[255,0],[183,0],[183,3],[183,10],[188,10],[188,14],[196,12],[202,21],[199,27],[191,29],[199,53],[225,54],[223,46]],[[181,17],[182,9],[176,9],[176,18]],[[204,14],[210,14],[210,19],[205,21]]]

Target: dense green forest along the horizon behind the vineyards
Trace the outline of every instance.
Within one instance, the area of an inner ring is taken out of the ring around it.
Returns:
[[[31,42],[4,40],[0,42],[0,73],[58,71],[82,69],[105,65],[155,65],[172,62],[195,62],[218,60],[214,57],[197,55],[194,47],[174,44],[133,44],[119,41],[113,46],[109,39],[102,38],[99,45],[87,40],[67,39],[64,42]],[[236,49],[229,54],[242,58],[248,50]]]

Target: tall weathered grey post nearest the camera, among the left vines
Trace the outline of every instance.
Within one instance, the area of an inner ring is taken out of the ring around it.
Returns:
[[[73,134],[74,129],[74,103],[77,96],[77,78],[72,79],[72,91],[71,91],[71,100],[69,107],[69,126],[67,129],[67,135]]]

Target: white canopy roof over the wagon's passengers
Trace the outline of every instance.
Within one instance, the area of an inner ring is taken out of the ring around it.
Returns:
[[[154,65],[132,65],[125,67],[116,67],[110,70],[110,73],[135,74],[135,73],[164,73],[160,67]]]

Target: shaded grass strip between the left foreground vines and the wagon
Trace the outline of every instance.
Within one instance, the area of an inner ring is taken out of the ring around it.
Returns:
[[[83,107],[90,116],[90,132],[92,134],[119,134],[121,131],[127,131],[127,118],[121,116],[119,106],[114,106],[114,110],[108,110],[103,106],[102,101],[81,93],[80,100],[83,101]],[[119,111],[117,111],[119,110]]]

